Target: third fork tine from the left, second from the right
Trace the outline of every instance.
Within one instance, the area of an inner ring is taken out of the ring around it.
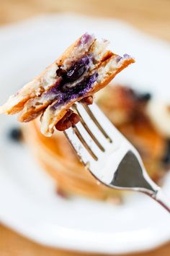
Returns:
[[[108,145],[109,141],[107,137],[104,136],[104,134],[101,132],[99,127],[94,123],[94,121],[91,119],[91,116],[89,116],[89,113],[86,111],[86,108],[83,104],[81,103],[76,103],[73,106],[73,110],[76,111],[79,116],[81,116],[81,122],[84,125],[84,127],[90,131],[90,134],[92,134],[91,137],[95,137],[95,141],[99,148],[104,151]]]

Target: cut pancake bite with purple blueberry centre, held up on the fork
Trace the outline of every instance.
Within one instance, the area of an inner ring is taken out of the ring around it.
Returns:
[[[134,62],[128,54],[121,57],[107,50],[107,45],[107,40],[99,41],[85,33],[39,76],[9,97],[0,113],[19,112],[22,122],[41,114],[41,132],[50,137],[73,103],[97,93]]]

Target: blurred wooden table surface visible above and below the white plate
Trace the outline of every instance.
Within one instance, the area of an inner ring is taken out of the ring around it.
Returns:
[[[97,17],[119,18],[130,22],[146,33],[170,41],[169,0],[0,0],[0,7],[0,25],[19,22],[47,12],[76,12]],[[90,254],[43,247],[0,225],[0,255],[78,256]],[[134,255],[168,256],[170,255],[170,244],[151,252]]]

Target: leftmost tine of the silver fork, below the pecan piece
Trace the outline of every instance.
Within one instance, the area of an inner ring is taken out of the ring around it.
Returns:
[[[79,137],[76,135],[74,129],[71,127],[64,131],[64,134],[71,143],[73,149],[76,151],[76,154],[79,155],[80,160],[84,165],[89,165],[89,163],[94,163],[94,158],[91,156],[89,151],[84,147]]]

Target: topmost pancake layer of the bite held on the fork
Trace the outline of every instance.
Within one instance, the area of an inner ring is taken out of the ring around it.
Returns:
[[[9,99],[0,106],[0,114],[17,114],[24,108],[30,98],[41,95],[45,90],[48,90],[51,86],[57,82],[56,71],[59,66],[69,68],[73,61],[76,61],[77,57],[81,58],[89,51],[92,43],[94,43],[94,35],[85,33],[75,43],[66,49],[60,58],[58,58],[53,64],[50,64],[43,72],[41,72],[35,79],[24,85],[23,88],[18,90],[17,93],[11,95]]]

